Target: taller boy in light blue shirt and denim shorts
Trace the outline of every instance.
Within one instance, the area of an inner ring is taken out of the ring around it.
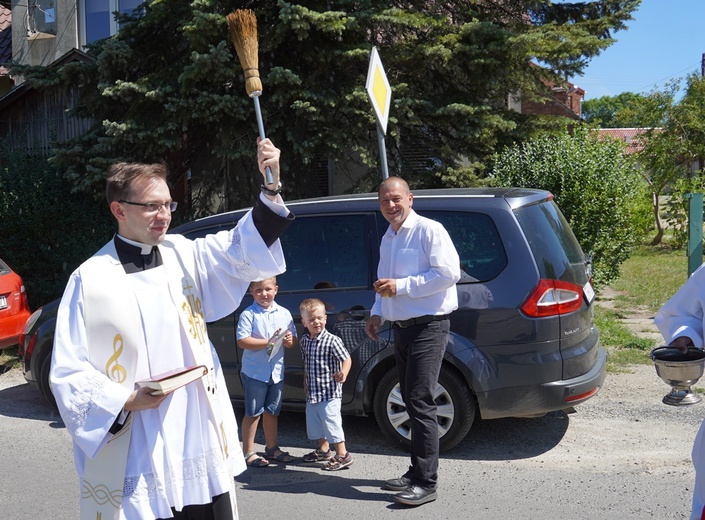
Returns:
[[[279,287],[276,278],[252,282],[255,299],[237,324],[237,344],[243,349],[240,379],[245,391],[245,417],[242,419],[242,452],[245,462],[263,468],[270,460],[291,462],[293,457],[279,449],[277,424],[284,386],[284,349],[296,345],[296,326],[291,313],[274,301]],[[260,417],[265,439],[265,456],[254,450]]]

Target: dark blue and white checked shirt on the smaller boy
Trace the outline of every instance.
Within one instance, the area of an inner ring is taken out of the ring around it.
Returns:
[[[299,345],[306,372],[306,402],[320,403],[343,397],[342,383],[333,379],[343,361],[350,357],[343,340],[323,329],[314,339],[305,332]]]

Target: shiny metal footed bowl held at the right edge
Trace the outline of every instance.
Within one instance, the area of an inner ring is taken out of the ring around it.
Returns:
[[[705,352],[702,349],[688,347],[687,352],[681,352],[677,347],[657,347],[651,351],[651,359],[656,374],[671,387],[663,398],[665,404],[683,406],[702,401],[691,389],[705,369]]]

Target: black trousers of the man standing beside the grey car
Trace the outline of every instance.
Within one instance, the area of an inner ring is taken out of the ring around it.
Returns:
[[[438,416],[434,393],[450,320],[394,327],[394,355],[401,396],[411,419],[411,467],[404,475],[412,484],[435,488],[438,482]]]

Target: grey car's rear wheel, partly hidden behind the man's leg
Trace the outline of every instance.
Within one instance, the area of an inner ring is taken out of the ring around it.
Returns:
[[[438,433],[441,451],[462,441],[475,420],[475,397],[454,372],[441,368],[435,395],[438,405]],[[396,368],[387,372],[377,386],[375,419],[390,439],[411,446],[411,420],[401,398]]]

